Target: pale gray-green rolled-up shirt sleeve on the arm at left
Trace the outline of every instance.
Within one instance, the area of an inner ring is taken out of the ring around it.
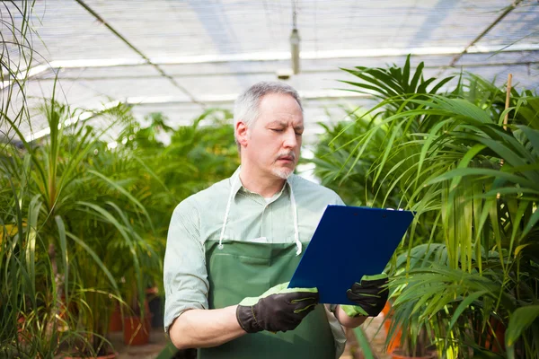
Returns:
[[[200,241],[200,216],[192,197],[176,206],[163,263],[164,331],[182,312],[208,309],[208,272]]]

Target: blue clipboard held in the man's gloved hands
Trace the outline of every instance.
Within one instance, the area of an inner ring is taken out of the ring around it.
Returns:
[[[288,288],[318,288],[321,303],[353,304],[347,290],[384,271],[410,226],[410,211],[327,206]]]

